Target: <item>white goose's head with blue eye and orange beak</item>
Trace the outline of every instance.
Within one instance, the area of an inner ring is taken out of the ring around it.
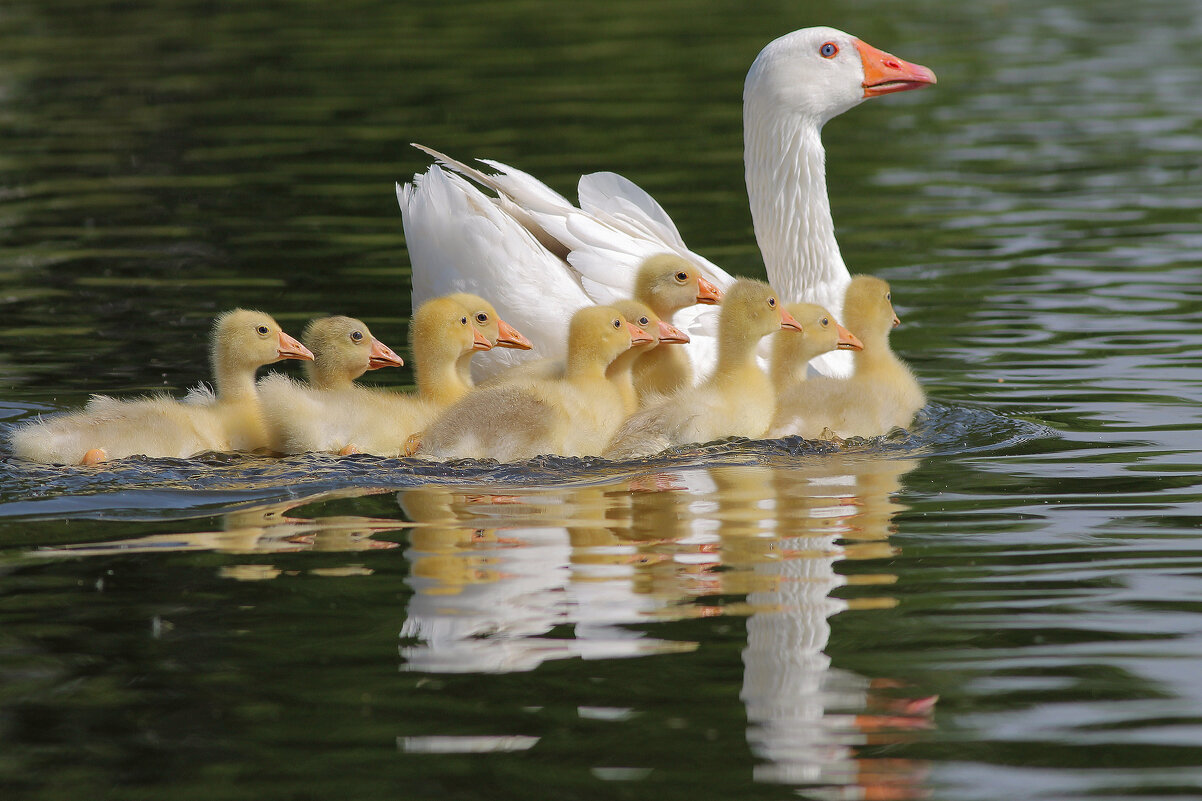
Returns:
[[[825,124],[868,97],[935,83],[929,69],[879,51],[834,28],[803,28],[764,47],[744,102]]]

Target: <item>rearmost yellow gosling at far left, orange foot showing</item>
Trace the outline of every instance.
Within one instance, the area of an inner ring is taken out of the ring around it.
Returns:
[[[267,447],[255,370],[281,358],[311,360],[313,354],[269,315],[234,309],[216,319],[210,358],[215,392],[194,391],[185,400],[93,396],[81,411],[18,427],[12,433],[13,455],[53,464],[90,464],[136,455],[186,458]]]

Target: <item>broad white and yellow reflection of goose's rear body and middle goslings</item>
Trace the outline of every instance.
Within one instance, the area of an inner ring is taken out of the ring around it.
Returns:
[[[405,669],[511,672],[695,647],[633,628],[671,615],[679,595],[651,575],[667,557],[631,535],[632,492],[638,482],[522,497],[401,492],[418,523],[405,552]]]

